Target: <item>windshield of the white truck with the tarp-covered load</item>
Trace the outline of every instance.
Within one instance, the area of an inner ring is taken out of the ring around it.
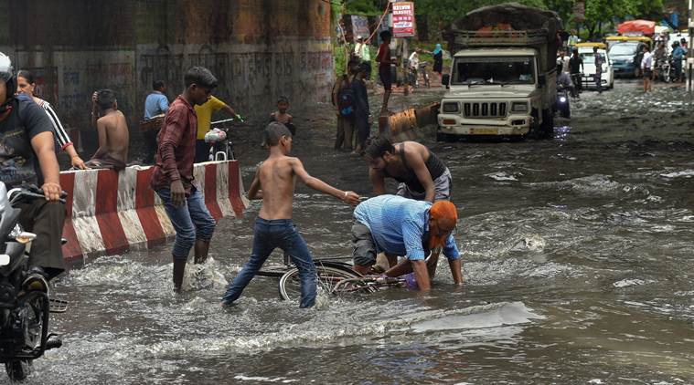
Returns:
[[[456,57],[451,84],[535,84],[533,57]]]

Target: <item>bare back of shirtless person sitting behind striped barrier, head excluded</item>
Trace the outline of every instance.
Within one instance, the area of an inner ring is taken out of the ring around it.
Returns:
[[[123,112],[109,109],[96,122],[99,132],[99,149],[89,163],[101,168],[123,169],[128,160],[130,135]]]

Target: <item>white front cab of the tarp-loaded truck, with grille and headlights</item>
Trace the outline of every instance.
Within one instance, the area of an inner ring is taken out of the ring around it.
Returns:
[[[538,52],[479,48],[455,54],[449,91],[439,114],[439,136],[527,135],[541,110]]]

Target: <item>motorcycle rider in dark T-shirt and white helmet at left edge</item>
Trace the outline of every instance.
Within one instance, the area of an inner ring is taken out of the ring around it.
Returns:
[[[33,100],[15,97],[12,63],[0,53],[0,182],[7,190],[41,186],[46,199],[20,203],[19,223],[37,234],[29,264],[42,267],[49,279],[65,270],[62,256],[65,204],[59,202],[59,165],[53,130],[46,112]]]

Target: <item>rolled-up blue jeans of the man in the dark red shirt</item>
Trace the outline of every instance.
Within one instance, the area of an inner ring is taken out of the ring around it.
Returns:
[[[176,230],[176,241],[171,254],[176,259],[186,260],[196,239],[212,239],[217,223],[205,205],[205,197],[195,187],[186,198],[186,202],[178,207],[171,203],[169,189],[157,190],[156,193],[162,199],[166,215]]]

